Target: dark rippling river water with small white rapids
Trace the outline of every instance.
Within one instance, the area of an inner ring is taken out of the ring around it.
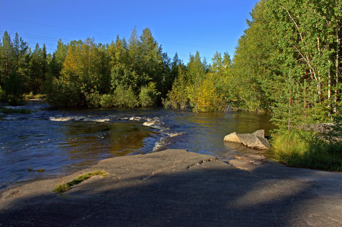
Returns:
[[[164,108],[53,110],[27,102],[30,114],[0,118],[0,189],[62,177],[98,161],[165,149],[215,155],[260,153],[225,135],[274,128],[267,114],[194,113]],[[266,154],[267,156],[267,154]],[[35,171],[44,169],[44,172]]]

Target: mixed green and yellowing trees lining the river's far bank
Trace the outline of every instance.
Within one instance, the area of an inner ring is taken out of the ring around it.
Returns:
[[[19,44],[17,44],[19,43]],[[17,47],[18,46],[18,47]],[[57,42],[53,54],[37,43],[32,52],[16,33],[4,32],[0,46],[2,101],[18,104],[23,94],[44,94],[54,107],[186,108],[223,110],[228,101],[227,75],[231,59],[216,52],[213,64],[197,51],[185,65],[177,55],[162,51],[149,28],[129,40],[116,37],[110,44],[94,38]]]

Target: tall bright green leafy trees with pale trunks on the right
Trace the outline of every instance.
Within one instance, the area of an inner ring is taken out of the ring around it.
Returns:
[[[232,68],[244,106],[288,130],[339,115],[342,1],[261,0],[250,15]]]

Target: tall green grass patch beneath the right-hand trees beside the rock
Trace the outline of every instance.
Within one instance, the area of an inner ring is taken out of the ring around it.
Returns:
[[[287,166],[342,171],[342,143],[328,143],[306,131],[279,131],[271,146],[275,156]]]

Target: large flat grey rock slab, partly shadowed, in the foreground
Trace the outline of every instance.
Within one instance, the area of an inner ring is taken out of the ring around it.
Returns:
[[[249,166],[186,150],[109,158],[3,191],[0,226],[342,226],[341,173]],[[52,192],[95,169],[108,175]]]

